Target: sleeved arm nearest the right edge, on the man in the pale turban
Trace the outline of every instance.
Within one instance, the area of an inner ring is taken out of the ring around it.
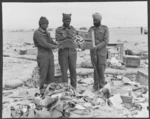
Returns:
[[[104,39],[102,42],[100,42],[96,47],[97,49],[101,49],[102,47],[106,47],[109,42],[109,30],[108,27],[105,27],[105,34],[104,34]]]

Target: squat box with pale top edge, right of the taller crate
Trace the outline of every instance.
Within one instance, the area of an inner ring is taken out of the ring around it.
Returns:
[[[124,62],[127,67],[139,67],[140,66],[140,57],[134,55],[125,55]]]

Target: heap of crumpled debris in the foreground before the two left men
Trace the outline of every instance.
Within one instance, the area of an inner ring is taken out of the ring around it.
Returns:
[[[79,93],[66,83],[51,83],[43,94],[30,97],[30,103],[24,98],[24,103],[11,105],[9,112],[12,118],[97,117],[94,109],[102,110],[105,101],[93,96],[97,97],[92,93],[89,97],[88,91]]]

